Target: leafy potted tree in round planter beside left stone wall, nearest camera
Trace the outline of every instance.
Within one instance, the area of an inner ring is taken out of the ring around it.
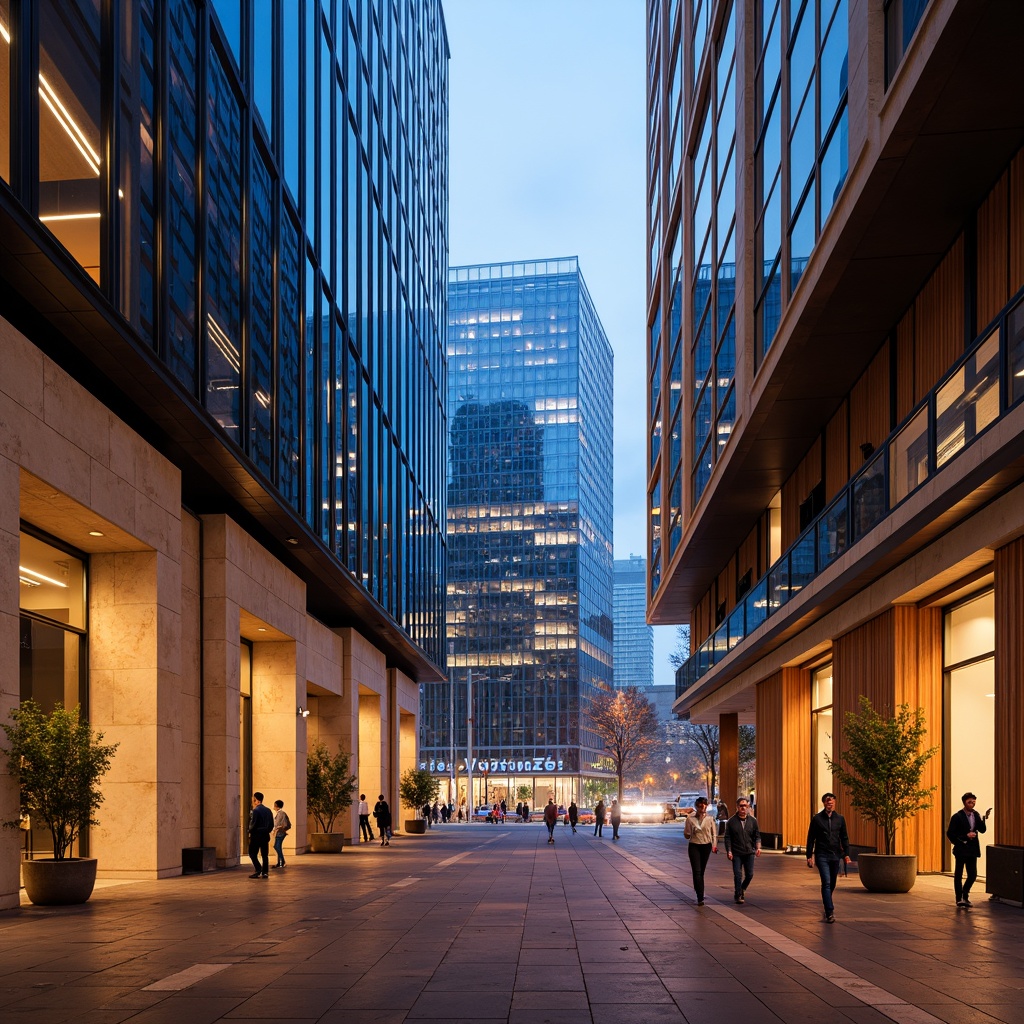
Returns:
[[[34,700],[11,709],[3,723],[8,773],[18,780],[20,816],[4,821],[20,828],[26,821],[45,825],[53,841],[53,856],[22,864],[25,891],[33,903],[60,906],[84,903],[96,882],[94,857],[69,856],[88,825],[95,825],[103,801],[99,780],[110,770],[117,743],[102,743],[76,706],[57,703],[46,714]]]

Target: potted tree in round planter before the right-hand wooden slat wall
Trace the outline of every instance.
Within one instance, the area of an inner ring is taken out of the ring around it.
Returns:
[[[896,853],[896,834],[901,821],[932,806],[936,786],[922,787],[921,777],[938,748],[922,750],[927,732],[923,708],[900,705],[884,717],[861,695],[859,710],[846,714],[846,750],[839,761],[825,758],[853,807],[882,830],[883,852],[857,856],[860,881],[871,892],[913,888],[918,857]]]

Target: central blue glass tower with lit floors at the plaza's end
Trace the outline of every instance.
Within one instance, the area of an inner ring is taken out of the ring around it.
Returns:
[[[520,785],[582,800],[600,757],[585,710],[611,684],[611,349],[575,259],[452,268],[455,715],[449,686],[422,687],[421,761],[449,775],[454,744],[464,765],[472,673],[477,801],[515,805]]]

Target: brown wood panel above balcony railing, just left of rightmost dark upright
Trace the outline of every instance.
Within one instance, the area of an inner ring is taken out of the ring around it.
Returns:
[[[914,302],[914,402],[964,354],[964,236]]]

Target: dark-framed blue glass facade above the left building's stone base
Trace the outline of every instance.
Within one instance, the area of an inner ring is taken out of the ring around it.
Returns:
[[[0,22],[14,199],[275,522],[442,664],[440,0],[39,0]]]

